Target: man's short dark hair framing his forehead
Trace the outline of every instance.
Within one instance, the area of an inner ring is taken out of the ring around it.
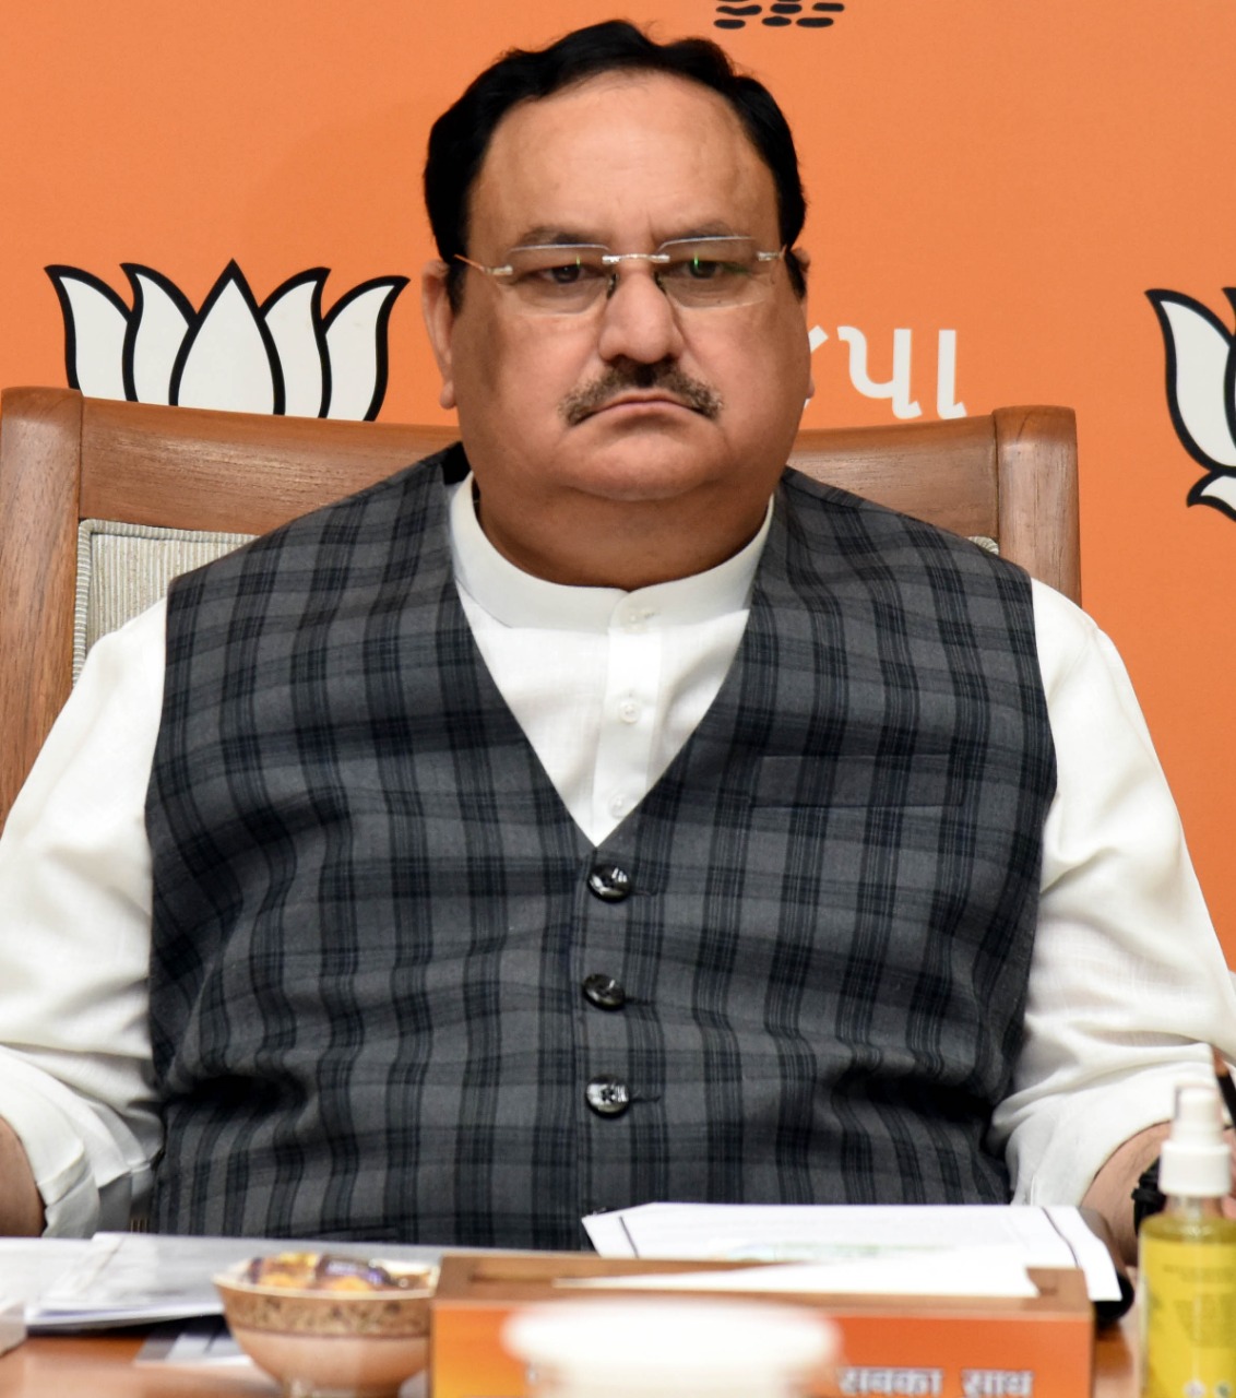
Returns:
[[[547,49],[510,49],[433,123],[425,161],[425,207],[438,254],[447,267],[452,305],[459,302],[464,273],[456,254],[467,252],[468,197],[498,124],[519,102],[551,96],[573,82],[614,71],[667,73],[723,96],[772,172],[782,245],[793,249],[807,217],[807,200],[794,137],[772,92],[737,73],[724,50],[709,39],[656,43],[633,24],[608,20],[575,29]],[[804,295],[807,282],[793,252],[786,254],[786,267],[796,292]]]

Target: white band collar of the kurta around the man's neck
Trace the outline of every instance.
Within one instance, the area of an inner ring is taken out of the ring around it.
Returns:
[[[660,626],[712,621],[748,605],[755,568],[768,538],[772,500],[759,533],[716,568],[671,583],[624,593],[618,587],[569,587],[516,568],[489,542],[473,507],[473,477],[450,499],[450,554],[459,586],[505,626],[605,632],[615,610],[638,607]]]

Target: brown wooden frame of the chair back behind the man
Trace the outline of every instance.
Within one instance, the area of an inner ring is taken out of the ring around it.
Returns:
[[[73,685],[82,520],[122,521],[120,534],[131,526],[221,533],[203,545],[220,552],[235,535],[274,528],[452,440],[454,432],[439,426],[207,412],[84,398],[71,389],[6,390],[0,821]],[[1077,435],[1067,408],[811,431],[791,460],[858,495],[990,538],[1036,577],[1079,594]],[[173,570],[197,556],[178,545]],[[155,586],[165,584],[162,577]]]

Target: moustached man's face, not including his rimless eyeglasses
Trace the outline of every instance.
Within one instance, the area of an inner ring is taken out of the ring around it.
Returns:
[[[685,80],[607,74],[498,126],[473,189],[468,257],[502,266],[512,247],[565,240],[647,253],[717,233],[779,247],[773,178],[737,116]],[[784,264],[759,299],[682,309],[649,264],[626,263],[612,295],[577,315],[530,313],[471,268],[452,313],[440,277],[436,264],[425,303],[442,403],[459,410],[491,537],[508,502],[577,513],[583,500],[691,500],[749,537],[810,384]],[[519,562],[509,540],[495,542]]]

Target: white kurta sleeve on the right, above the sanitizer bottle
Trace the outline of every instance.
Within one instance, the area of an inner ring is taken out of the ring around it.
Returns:
[[[1025,1046],[993,1120],[1014,1198],[1077,1204],[1174,1088],[1236,1053],[1236,995],[1124,665],[1035,584],[1058,786],[1043,836]]]

